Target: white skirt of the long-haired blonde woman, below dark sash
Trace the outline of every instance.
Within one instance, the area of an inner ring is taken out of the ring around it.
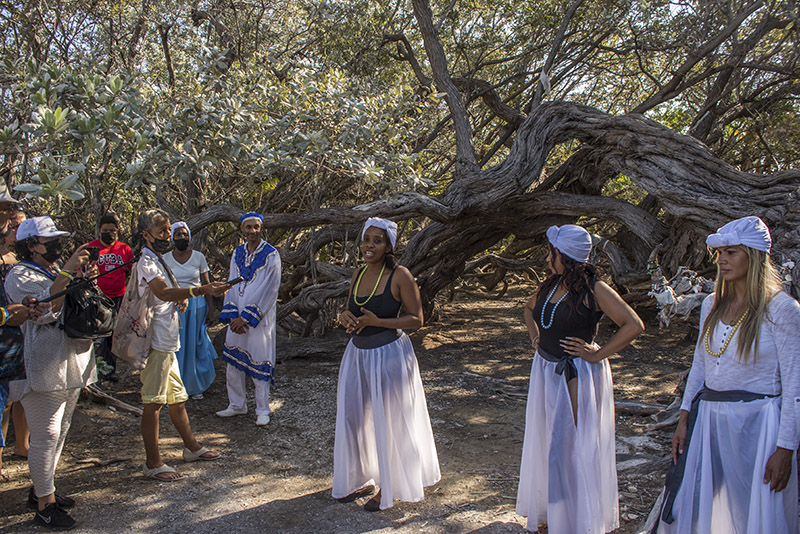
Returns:
[[[764,484],[775,452],[780,397],[700,402],[675,497],[675,521],[659,534],[797,534],[797,457],[780,493]]]

